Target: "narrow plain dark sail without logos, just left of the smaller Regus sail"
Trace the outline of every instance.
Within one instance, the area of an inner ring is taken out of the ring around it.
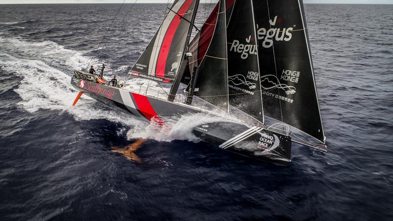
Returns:
[[[225,0],[220,0],[214,33],[199,65],[195,95],[228,110]]]

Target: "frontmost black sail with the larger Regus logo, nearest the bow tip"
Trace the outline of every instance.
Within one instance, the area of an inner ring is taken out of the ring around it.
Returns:
[[[253,0],[264,113],[324,142],[302,0]]]

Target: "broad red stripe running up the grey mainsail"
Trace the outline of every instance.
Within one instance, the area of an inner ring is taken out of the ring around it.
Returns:
[[[184,2],[181,8],[179,9],[179,11],[177,12],[177,14],[179,15],[185,14],[188,8],[190,7],[191,3],[193,3],[193,0],[187,0],[186,2]],[[182,18],[180,16],[175,15],[175,17],[173,18],[172,22],[169,25],[167,33],[165,34],[163,43],[161,45],[160,54],[158,54],[157,66],[156,66],[156,76],[159,78],[165,77],[165,67],[167,66],[167,59],[168,59],[170,45],[172,44],[173,36],[175,35],[177,28],[179,27],[181,19]]]

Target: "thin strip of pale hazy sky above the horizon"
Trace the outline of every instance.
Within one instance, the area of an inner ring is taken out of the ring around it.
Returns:
[[[126,0],[133,3],[135,0]],[[137,0],[139,3],[167,3],[168,0]],[[173,0],[171,0],[173,1]],[[217,0],[200,0],[201,2],[217,2]],[[0,0],[0,4],[26,3],[122,3],[123,0]],[[364,4],[393,4],[393,0],[304,0],[305,3],[364,3]]]

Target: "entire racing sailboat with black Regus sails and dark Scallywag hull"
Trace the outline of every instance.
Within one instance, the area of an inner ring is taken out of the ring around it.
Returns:
[[[211,116],[199,138],[283,165],[291,142],[327,151],[302,0],[220,0],[200,29],[198,4],[174,0],[127,80],[74,71],[74,105],[86,94],[158,125]]]

